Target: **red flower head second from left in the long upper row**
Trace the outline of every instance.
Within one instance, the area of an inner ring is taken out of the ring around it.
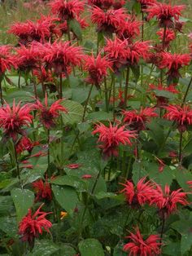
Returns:
[[[42,51],[38,44],[32,43],[28,47],[22,45],[15,51],[15,62],[20,71],[29,72],[38,67],[42,57]]]

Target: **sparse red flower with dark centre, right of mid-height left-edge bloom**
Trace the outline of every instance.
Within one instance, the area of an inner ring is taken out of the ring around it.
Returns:
[[[55,119],[59,117],[59,112],[68,113],[68,110],[60,104],[62,101],[63,99],[56,100],[55,103],[48,106],[46,95],[45,104],[41,104],[39,100],[33,104],[33,108],[37,109],[40,121],[46,129],[49,130],[55,126]]]

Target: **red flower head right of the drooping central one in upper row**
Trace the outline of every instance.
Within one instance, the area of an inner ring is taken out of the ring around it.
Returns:
[[[126,64],[128,55],[127,46],[127,40],[120,40],[119,38],[115,38],[114,40],[107,39],[104,51],[107,53],[107,59],[111,60],[114,71],[118,71],[121,66]]]

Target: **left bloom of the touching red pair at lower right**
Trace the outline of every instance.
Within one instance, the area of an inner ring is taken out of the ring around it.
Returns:
[[[134,184],[129,180],[124,184],[120,184],[124,186],[124,189],[120,192],[124,193],[126,201],[133,208],[137,208],[139,205],[145,205],[146,203],[151,202],[154,185],[151,181],[146,182],[146,177],[140,179],[136,187],[134,187]]]

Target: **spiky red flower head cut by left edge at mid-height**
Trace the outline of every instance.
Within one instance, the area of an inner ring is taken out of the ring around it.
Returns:
[[[5,104],[0,108],[0,127],[4,130],[6,137],[11,137],[16,140],[18,134],[24,135],[24,126],[28,126],[32,123],[33,116],[30,115],[31,106],[24,104],[20,107],[20,103],[15,105],[15,99],[13,100],[13,106]]]

